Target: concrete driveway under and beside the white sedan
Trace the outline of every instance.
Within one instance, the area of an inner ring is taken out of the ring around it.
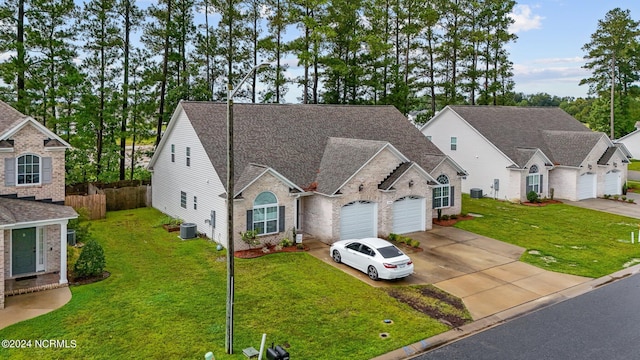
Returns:
[[[407,234],[423,251],[409,253],[414,274],[396,281],[371,281],[367,275],[329,256],[329,246],[315,241],[310,253],[376,287],[426,285],[462,299],[474,320],[565,290],[590,278],[560,274],[518,261],[524,248],[453,227]]]

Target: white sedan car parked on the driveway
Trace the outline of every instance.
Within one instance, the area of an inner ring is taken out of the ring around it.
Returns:
[[[400,249],[378,238],[336,241],[329,255],[369,275],[372,280],[399,279],[413,274],[413,262]]]

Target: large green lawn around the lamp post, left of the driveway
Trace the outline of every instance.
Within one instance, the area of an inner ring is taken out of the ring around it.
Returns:
[[[236,259],[234,355],[226,355],[225,253],[154,227],[161,217],[136,209],[94,221],[111,276],[72,286],[61,309],[0,330],[0,339],[75,340],[75,348],[0,349],[0,358],[202,359],[212,351],[244,359],[242,349],[258,349],[266,333],[295,359],[369,359],[447,330],[307,253],[272,254]]]

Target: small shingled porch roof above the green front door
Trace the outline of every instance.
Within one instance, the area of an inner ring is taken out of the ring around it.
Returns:
[[[0,225],[76,217],[78,214],[71,206],[0,197]]]

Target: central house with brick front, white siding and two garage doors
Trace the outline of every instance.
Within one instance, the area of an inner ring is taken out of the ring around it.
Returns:
[[[183,101],[149,169],[153,207],[227,245],[224,103]],[[458,214],[466,172],[392,106],[234,105],[234,246],[293,231],[331,243]]]

